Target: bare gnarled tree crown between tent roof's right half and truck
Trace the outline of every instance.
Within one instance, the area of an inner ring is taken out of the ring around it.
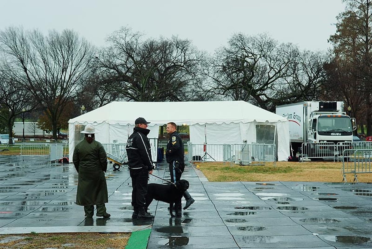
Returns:
[[[277,104],[316,96],[324,78],[322,59],[266,34],[236,34],[211,60],[209,91],[274,111]]]

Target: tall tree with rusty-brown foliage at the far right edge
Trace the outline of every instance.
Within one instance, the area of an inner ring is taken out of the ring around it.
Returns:
[[[329,39],[334,46],[333,67],[345,81],[337,88],[348,89],[344,99],[353,113],[364,112],[367,135],[372,135],[372,0],[344,2],[346,8],[337,16],[336,33]],[[363,97],[362,103],[359,97]]]

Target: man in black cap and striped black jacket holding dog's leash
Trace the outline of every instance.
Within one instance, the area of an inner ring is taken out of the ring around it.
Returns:
[[[125,147],[128,156],[129,174],[132,179],[133,219],[154,218],[145,208],[148,174],[153,173],[151,147],[147,138],[150,130],[146,129],[149,123],[150,122],[147,122],[143,117],[136,119],[133,133],[129,136]]]

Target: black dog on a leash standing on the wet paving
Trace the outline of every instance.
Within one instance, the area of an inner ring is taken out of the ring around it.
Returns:
[[[185,192],[189,188],[189,182],[186,180],[179,180],[176,184],[157,184],[157,183],[150,183],[147,185],[147,195],[146,195],[146,209],[151,204],[153,199],[157,201],[163,201],[169,203],[169,213],[171,217],[175,217],[173,215],[173,204],[180,201],[183,192]],[[181,210],[177,210],[176,207],[176,215],[181,215]]]

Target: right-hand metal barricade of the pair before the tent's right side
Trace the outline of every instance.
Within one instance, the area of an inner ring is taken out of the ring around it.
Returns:
[[[275,144],[234,144],[232,145],[232,163],[249,165],[273,162],[275,166]]]

